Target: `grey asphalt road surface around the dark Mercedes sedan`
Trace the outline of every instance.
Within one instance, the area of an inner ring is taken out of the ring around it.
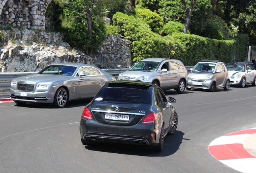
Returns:
[[[256,127],[255,89],[166,91],[177,100],[179,123],[161,153],[134,145],[82,145],[79,121],[90,100],[62,109],[0,103],[0,173],[238,173],[208,147],[222,135]]]

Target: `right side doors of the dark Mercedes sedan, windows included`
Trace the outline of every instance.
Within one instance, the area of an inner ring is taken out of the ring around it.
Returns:
[[[168,105],[167,99],[165,97],[165,94],[163,93],[163,91],[159,88],[157,88],[157,92],[155,93],[156,95],[156,99],[157,99],[157,106],[159,107],[161,113],[163,114],[163,119],[165,121],[165,133],[167,133],[169,131],[169,126],[170,126],[170,119],[172,119],[171,117],[171,109]]]

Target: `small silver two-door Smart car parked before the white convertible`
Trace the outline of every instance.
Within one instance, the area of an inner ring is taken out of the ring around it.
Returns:
[[[216,88],[229,90],[230,79],[227,68],[219,60],[202,60],[198,62],[188,74],[187,90],[208,89],[215,91]]]

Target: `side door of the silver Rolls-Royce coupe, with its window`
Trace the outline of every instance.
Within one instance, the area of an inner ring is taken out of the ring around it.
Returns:
[[[76,90],[76,97],[94,97],[100,89],[97,75],[101,73],[90,66],[81,67],[78,70],[78,73],[79,72],[84,72],[85,76],[76,79],[76,82],[79,82]]]

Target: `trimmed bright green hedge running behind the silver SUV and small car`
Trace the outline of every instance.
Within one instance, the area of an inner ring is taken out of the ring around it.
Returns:
[[[232,62],[235,40],[216,40],[176,32],[159,36],[151,31],[149,25],[140,18],[117,12],[113,25],[120,28],[119,34],[130,40],[133,61],[144,58],[173,58],[185,65],[195,65],[202,59]]]

